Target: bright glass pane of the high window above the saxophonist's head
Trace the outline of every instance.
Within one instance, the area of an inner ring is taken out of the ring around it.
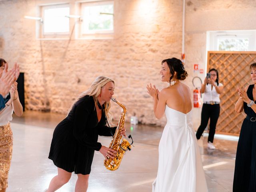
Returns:
[[[113,30],[114,6],[86,6],[83,10],[83,32]]]

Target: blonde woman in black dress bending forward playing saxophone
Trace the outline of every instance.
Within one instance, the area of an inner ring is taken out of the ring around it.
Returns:
[[[83,92],[70,108],[68,116],[54,130],[49,159],[58,167],[58,175],[52,178],[46,192],[54,192],[66,184],[72,172],[78,175],[75,192],[86,191],[94,150],[106,159],[116,152],[98,141],[98,135],[111,136],[116,127],[111,122],[110,98],[114,94],[114,81],[100,76],[89,90]],[[126,137],[125,129],[122,135]]]

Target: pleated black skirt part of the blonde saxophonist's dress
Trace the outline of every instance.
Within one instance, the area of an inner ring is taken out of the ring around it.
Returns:
[[[75,174],[90,174],[94,150],[77,142],[73,136],[73,123],[60,122],[53,133],[49,159],[58,168]]]

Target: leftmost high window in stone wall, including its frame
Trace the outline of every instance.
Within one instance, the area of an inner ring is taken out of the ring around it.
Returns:
[[[68,4],[42,6],[42,37],[69,34]]]

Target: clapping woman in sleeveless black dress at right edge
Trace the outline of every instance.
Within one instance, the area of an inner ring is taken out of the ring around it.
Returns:
[[[252,85],[237,88],[235,110],[246,113],[236,152],[233,192],[256,191],[256,63],[250,65]]]

